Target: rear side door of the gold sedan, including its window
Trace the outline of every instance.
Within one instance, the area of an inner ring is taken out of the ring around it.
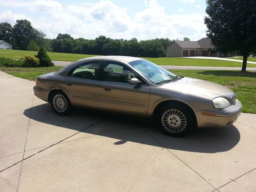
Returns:
[[[100,61],[91,61],[76,66],[69,72],[65,86],[73,105],[99,109],[99,66]]]

